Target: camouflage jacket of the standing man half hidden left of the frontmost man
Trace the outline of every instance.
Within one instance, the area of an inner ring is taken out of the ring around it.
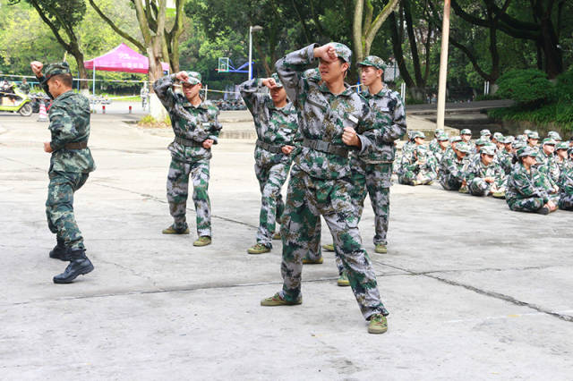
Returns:
[[[268,94],[261,94],[263,88],[261,79],[247,80],[239,86],[244,104],[254,119],[257,138],[277,146],[295,145],[298,130],[295,105],[288,102],[277,108]]]

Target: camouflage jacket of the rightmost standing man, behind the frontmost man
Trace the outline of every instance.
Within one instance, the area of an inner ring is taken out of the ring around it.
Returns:
[[[396,91],[386,87],[377,94],[363,91],[371,113],[376,119],[376,128],[382,129],[382,139],[372,145],[370,152],[358,155],[364,163],[391,163],[396,157],[395,140],[406,133],[406,111],[404,103]]]

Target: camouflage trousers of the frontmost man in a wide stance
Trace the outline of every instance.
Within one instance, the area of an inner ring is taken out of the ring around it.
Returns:
[[[350,186],[348,180],[313,178],[297,165],[291,170],[281,224],[283,260],[280,270],[284,281],[281,296],[286,301],[296,301],[301,296],[303,258],[309,251],[311,239],[307,226],[316,226],[322,215],[363,317],[370,318],[374,313],[388,315],[380,299],[371,260],[362,247]]]

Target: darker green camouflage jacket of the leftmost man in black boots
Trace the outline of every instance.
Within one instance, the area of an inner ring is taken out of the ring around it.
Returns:
[[[38,78],[40,83],[44,77]],[[42,85],[46,94],[50,94],[47,83]],[[52,139],[52,157],[49,171],[87,174],[96,169],[90,148],[66,149],[66,143],[86,143],[90,139],[90,101],[73,90],[66,91],[54,99],[48,113]]]

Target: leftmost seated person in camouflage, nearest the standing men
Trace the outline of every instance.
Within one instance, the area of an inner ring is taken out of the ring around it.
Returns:
[[[402,157],[398,182],[405,185],[431,185],[436,179],[436,164],[429,149],[417,145],[410,154]]]

